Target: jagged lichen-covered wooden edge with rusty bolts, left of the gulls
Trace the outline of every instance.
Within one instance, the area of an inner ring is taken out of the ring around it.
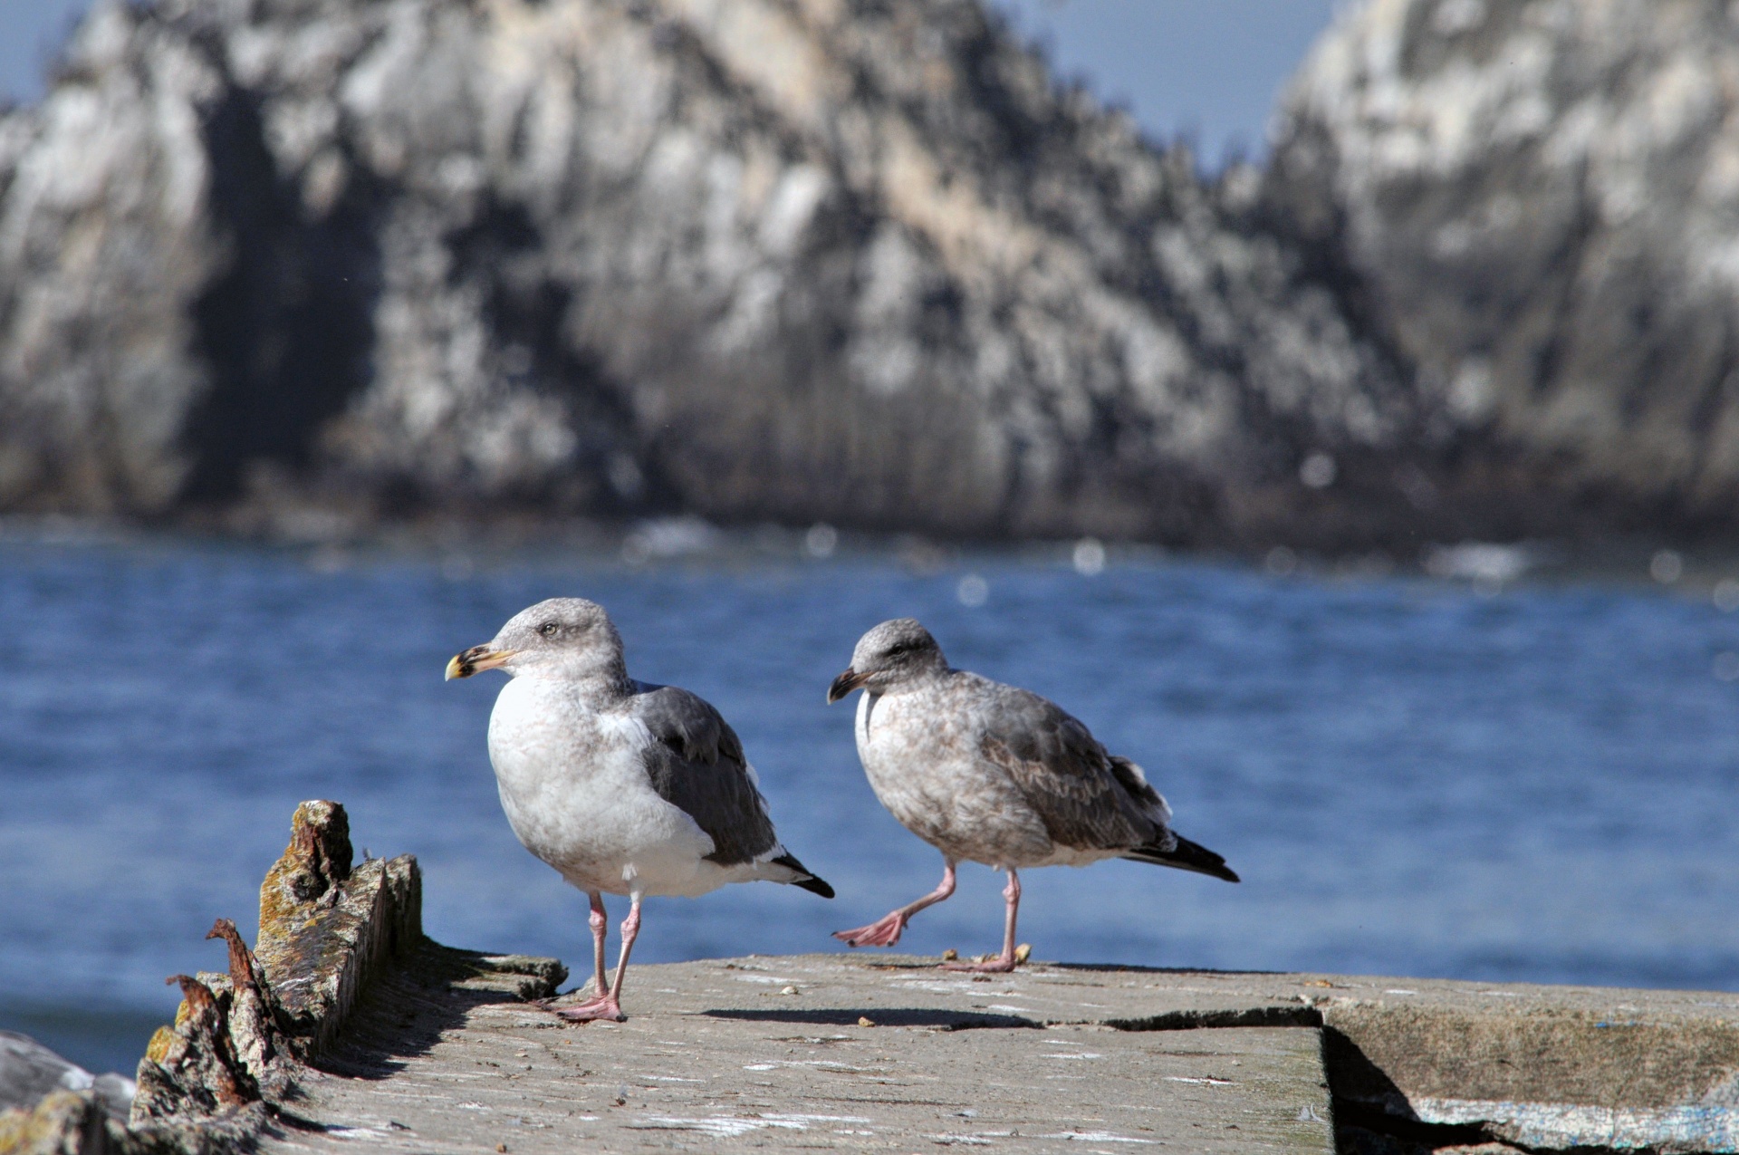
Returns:
[[[383,972],[426,945],[423,884],[412,856],[353,865],[350,819],[336,802],[304,802],[290,844],[261,885],[259,950],[217,918],[228,972],[170,976],[183,991],[172,1026],[151,1037],[129,1125],[104,1118],[89,1091],[56,1092],[0,1113],[0,1155],[219,1155],[249,1148],[297,1073],[329,1047]],[[433,948],[433,945],[428,945]],[[435,948],[445,951],[445,948]],[[426,951],[424,951],[426,953]],[[520,997],[555,993],[548,958],[483,958],[523,974]]]

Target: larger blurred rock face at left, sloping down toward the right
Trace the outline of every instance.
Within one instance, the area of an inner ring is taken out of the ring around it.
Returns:
[[[1419,417],[1256,184],[972,0],[101,7],[0,120],[0,508],[1332,522]]]

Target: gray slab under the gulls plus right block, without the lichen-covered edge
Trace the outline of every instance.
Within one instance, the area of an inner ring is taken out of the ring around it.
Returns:
[[[803,955],[636,967],[628,1023],[567,1026],[436,964],[268,1150],[1739,1150],[1736,995]]]

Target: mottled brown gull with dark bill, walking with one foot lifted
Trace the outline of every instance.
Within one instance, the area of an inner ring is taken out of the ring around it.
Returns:
[[[1009,875],[1002,955],[962,971],[1014,971],[1014,920],[1026,866],[1129,858],[1236,882],[1226,859],[1170,828],[1172,809],[1141,767],[1106,751],[1085,725],[1038,694],[953,670],[911,618],[863,635],[828,701],[856,689],[857,757],[876,798],[943,852],[943,882],[885,918],[833,938],[892,946],[906,922],[955,892],[955,865]]]

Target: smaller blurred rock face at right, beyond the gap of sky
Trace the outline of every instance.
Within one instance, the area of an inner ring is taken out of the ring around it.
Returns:
[[[1732,525],[1736,80],[1729,3],[1374,0],[1294,82],[1268,198],[1499,527]]]

